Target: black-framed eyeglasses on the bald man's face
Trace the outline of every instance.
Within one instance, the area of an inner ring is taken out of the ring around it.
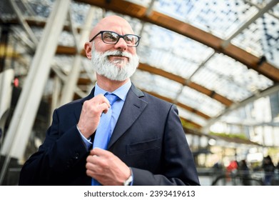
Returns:
[[[127,46],[136,47],[139,44],[139,41],[141,39],[140,36],[133,35],[133,34],[126,34],[126,35],[119,35],[116,34],[116,32],[113,31],[100,31],[96,36],[101,34],[102,41],[106,44],[116,44],[119,39],[123,38],[124,41],[126,41]],[[93,38],[89,41],[93,41],[93,39],[96,39],[96,36],[93,36]]]

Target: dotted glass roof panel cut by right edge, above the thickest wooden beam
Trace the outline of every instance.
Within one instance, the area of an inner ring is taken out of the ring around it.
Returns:
[[[279,21],[274,16],[264,14],[236,36],[232,43],[255,56],[266,56],[279,68]]]

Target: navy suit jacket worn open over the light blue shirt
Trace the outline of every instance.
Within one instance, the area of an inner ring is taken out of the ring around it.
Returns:
[[[91,98],[93,91],[54,111],[44,143],[21,169],[19,185],[91,184],[85,167],[89,152],[76,129],[83,102]],[[108,151],[131,167],[133,185],[199,185],[176,106],[133,84]]]

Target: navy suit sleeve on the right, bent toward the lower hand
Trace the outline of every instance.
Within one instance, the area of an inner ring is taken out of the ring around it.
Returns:
[[[133,185],[200,185],[193,155],[188,146],[178,110],[171,106],[163,139],[163,173],[132,168]]]

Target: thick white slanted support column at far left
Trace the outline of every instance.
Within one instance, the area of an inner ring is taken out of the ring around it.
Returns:
[[[71,0],[55,1],[37,46],[29,74],[26,77],[4,140],[3,149],[1,149],[1,154],[6,155],[6,159],[0,174],[0,184],[4,179],[10,159],[22,159],[24,156],[70,2]]]

